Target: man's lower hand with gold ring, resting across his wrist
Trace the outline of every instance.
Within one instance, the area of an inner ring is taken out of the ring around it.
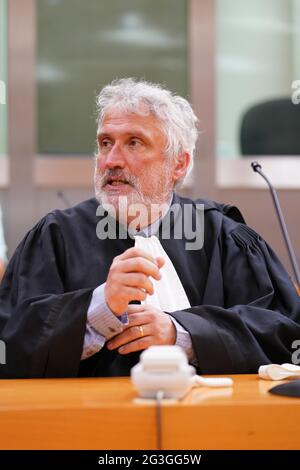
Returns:
[[[107,343],[108,349],[128,354],[153,345],[175,344],[176,328],[167,313],[151,305],[128,305],[127,312],[129,324]]]

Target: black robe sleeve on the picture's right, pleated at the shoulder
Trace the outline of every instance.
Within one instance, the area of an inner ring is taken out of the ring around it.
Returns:
[[[235,224],[220,233],[213,262],[216,273],[222,266],[224,305],[172,313],[191,335],[199,371],[257,373],[262,364],[291,362],[292,343],[300,338],[300,298],[271,248]],[[218,287],[216,275],[210,289]]]

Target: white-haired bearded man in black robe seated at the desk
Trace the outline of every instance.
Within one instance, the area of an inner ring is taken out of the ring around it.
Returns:
[[[237,209],[174,192],[197,139],[190,104],[122,79],[97,105],[96,198],[46,215],[17,248],[0,291],[0,374],[128,375],[162,344],[200,373],[290,362],[299,298],[272,250]]]

